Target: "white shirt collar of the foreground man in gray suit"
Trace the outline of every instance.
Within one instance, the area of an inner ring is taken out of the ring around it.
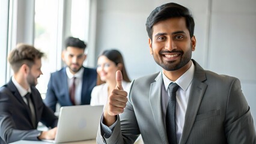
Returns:
[[[191,64],[190,68],[182,74],[178,79],[175,81],[175,83],[180,86],[180,88],[183,89],[183,91],[186,91],[187,88],[189,87],[189,84],[192,82],[193,76],[195,72],[195,65]],[[172,82],[171,80],[168,79],[168,77],[165,76],[165,74],[162,71],[162,76],[163,76],[163,84],[165,85],[165,90],[167,91],[169,84]]]

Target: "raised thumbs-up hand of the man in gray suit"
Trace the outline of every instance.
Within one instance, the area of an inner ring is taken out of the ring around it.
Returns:
[[[117,86],[109,94],[103,114],[103,124],[107,126],[114,124],[116,115],[124,112],[124,107],[126,107],[128,101],[127,92],[123,91],[123,76],[120,70],[115,74],[115,79],[117,80]]]

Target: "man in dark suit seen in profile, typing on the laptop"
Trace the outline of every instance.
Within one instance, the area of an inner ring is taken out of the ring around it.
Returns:
[[[0,88],[0,143],[17,140],[55,139],[58,118],[44,105],[35,85],[41,72],[43,52],[18,44],[8,57],[14,74]],[[52,129],[38,131],[38,122]]]

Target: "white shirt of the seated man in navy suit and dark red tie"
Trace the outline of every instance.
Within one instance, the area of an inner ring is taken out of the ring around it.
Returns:
[[[76,90],[75,90],[75,104],[81,104],[81,92],[82,92],[82,83],[83,83],[83,74],[84,74],[84,67],[82,67],[77,73],[72,74],[69,70],[69,67],[66,67],[67,73],[67,84],[69,88],[73,83],[73,77],[76,77]]]

